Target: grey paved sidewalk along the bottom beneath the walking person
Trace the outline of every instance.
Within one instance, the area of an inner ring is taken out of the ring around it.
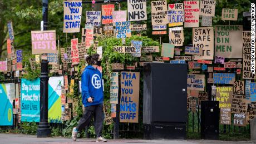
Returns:
[[[57,144],[57,143],[75,143],[75,144],[82,144],[82,143],[96,143],[95,139],[86,139],[86,138],[78,138],[76,142],[73,142],[71,138],[64,138],[64,137],[50,137],[50,138],[36,138],[35,135],[19,135],[19,134],[10,134],[10,133],[0,133],[0,143],[7,144],[7,143],[38,143],[38,144]],[[174,143],[174,144],[194,144],[194,143],[253,143],[252,141],[240,141],[240,142],[227,142],[227,141],[209,141],[209,140],[109,140],[108,144],[117,144],[117,143],[129,143],[129,144],[144,144],[144,143],[157,143],[157,144],[167,144],[167,143]]]

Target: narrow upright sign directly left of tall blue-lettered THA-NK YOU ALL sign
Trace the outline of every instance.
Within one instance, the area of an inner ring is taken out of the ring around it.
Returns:
[[[112,72],[110,76],[110,100],[109,103],[118,104],[119,79],[118,72]]]

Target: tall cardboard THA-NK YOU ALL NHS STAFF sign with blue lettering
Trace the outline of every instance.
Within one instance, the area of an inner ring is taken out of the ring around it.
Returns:
[[[121,72],[120,122],[138,122],[139,90],[140,73]]]

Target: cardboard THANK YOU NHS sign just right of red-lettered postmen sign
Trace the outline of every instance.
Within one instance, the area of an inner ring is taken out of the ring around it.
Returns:
[[[215,16],[215,4],[216,4],[216,1],[213,1],[213,0],[201,0],[199,15],[214,17]]]

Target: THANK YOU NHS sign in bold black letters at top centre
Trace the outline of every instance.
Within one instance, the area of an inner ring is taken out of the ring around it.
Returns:
[[[127,1],[127,9],[128,9],[128,21],[142,21],[147,20],[147,7],[146,0],[135,1],[129,0]]]

